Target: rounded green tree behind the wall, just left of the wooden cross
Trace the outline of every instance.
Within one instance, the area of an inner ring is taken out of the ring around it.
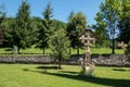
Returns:
[[[67,36],[69,37],[70,46],[73,48],[77,48],[77,54],[79,54],[79,47],[81,46],[81,42],[78,37],[87,27],[87,18],[81,12],[78,12],[76,14],[70,13],[66,29]]]

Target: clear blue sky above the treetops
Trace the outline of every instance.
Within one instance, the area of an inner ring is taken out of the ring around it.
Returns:
[[[28,0],[30,4],[31,16],[42,17],[42,12],[48,2],[53,8],[53,18],[67,22],[70,12],[81,11],[88,21],[88,24],[95,24],[94,17],[99,11],[99,5],[104,0]],[[22,0],[0,0],[0,5],[4,4],[6,15],[15,16]]]

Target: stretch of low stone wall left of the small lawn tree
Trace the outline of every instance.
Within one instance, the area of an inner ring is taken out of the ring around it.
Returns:
[[[0,57],[0,63],[50,63],[49,55],[44,57]]]

